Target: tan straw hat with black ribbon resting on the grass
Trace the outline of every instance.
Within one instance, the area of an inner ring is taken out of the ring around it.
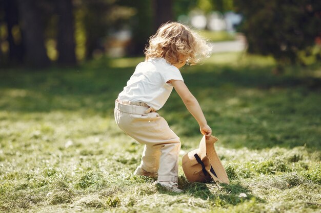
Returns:
[[[206,139],[204,135],[200,140],[199,149],[183,156],[183,171],[188,181],[229,183],[229,178],[214,148],[216,141],[217,137],[211,136],[210,139]]]

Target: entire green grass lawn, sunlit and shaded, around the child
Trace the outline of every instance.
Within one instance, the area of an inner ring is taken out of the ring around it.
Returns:
[[[226,53],[184,67],[230,184],[189,183],[179,167],[177,195],[132,175],[143,146],[114,122],[114,100],[141,60],[0,70],[1,212],[320,211],[319,64],[273,75],[270,58]],[[198,146],[176,92],[159,113],[183,151]]]

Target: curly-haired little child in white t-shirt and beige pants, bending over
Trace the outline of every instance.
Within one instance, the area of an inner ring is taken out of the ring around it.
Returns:
[[[184,83],[179,68],[197,64],[210,52],[209,46],[187,26],[168,22],[151,36],[146,60],[136,66],[115,103],[115,120],[126,134],[144,144],[141,164],[135,175],[157,177],[157,183],[173,192],[178,188],[179,137],[156,111],[163,107],[175,88],[200,132],[212,134],[197,100]]]

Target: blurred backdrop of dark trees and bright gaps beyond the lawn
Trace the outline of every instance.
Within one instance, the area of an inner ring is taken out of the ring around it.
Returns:
[[[321,59],[321,1],[0,0],[0,66],[142,57],[170,20],[198,31],[214,53],[247,51],[277,65]]]

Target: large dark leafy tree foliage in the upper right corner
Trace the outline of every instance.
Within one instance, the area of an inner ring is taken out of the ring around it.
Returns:
[[[311,54],[321,34],[321,1],[235,0],[244,15],[240,28],[251,53],[272,55],[282,64],[303,64],[300,54]]]

